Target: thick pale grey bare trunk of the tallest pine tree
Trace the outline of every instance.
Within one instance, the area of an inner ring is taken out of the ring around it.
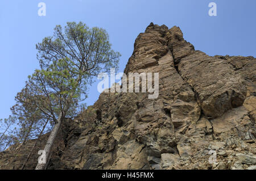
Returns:
[[[57,119],[57,123],[54,125],[52,132],[47,140],[46,146],[44,147],[46,161],[48,161],[49,159],[49,155],[51,153],[51,149],[55,141],[55,138],[57,136],[57,133],[59,132],[62,119],[63,119],[63,116],[62,116],[62,113],[60,113]],[[38,165],[36,166],[36,170],[44,170],[45,168],[46,168],[46,163],[38,163]]]

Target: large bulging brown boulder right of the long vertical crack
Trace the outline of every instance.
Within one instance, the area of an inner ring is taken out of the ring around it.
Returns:
[[[179,72],[195,90],[197,102],[209,117],[218,117],[242,106],[246,98],[242,77],[220,58],[196,51],[181,59]]]

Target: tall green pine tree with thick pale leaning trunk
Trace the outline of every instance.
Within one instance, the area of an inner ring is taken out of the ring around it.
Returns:
[[[67,23],[64,31],[56,26],[53,36],[44,38],[36,49],[41,69],[28,77],[24,102],[38,111],[34,115],[35,125],[36,120],[42,119],[50,120],[53,125],[44,148],[48,161],[63,120],[79,113],[93,76],[117,68],[120,54],[112,50],[104,29],[90,29],[81,22]],[[23,104],[19,100],[18,103]],[[32,122],[28,121],[31,125]],[[26,128],[31,133],[29,124]],[[45,169],[45,166],[45,163],[38,163],[36,169]]]

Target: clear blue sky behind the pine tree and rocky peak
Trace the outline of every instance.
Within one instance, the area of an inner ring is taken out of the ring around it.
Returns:
[[[39,2],[46,3],[46,16],[38,16]],[[210,2],[217,4],[217,16],[208,15]],[[113,49],[122,54],[122,72],[135,38],[150,22],[179,26],[187,41],[210,56],[256,57],[255,18],[255,0],[1,0],[0,118],[10,115],[16,93],[39,67],[35,44],[51,36],[56,24],[82,21],[105,28]],[[93,104],[98,95],[95,83],[87,104]]]

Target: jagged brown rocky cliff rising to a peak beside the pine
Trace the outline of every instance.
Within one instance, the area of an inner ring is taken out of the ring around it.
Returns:
[[[158,98],[102,93],[63,126],[48,169],[255,168],[254,57],[210,57],[185,41],[179,27],[151,23],[124,72],[159,73]],[[8,161],[7,152],[0,153],[1,169],[19,169],[24,158]],[[25,169],[35,166],[31,159]]]

